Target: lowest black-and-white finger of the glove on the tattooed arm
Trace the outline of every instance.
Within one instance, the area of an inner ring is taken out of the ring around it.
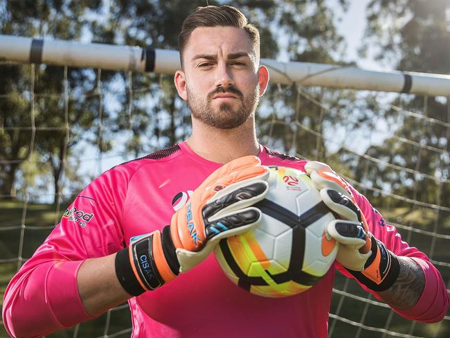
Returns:
[[[327,225],[327,233],[341,244],[359,249],[366,244],[366,232],[359,222],[334,220]]]

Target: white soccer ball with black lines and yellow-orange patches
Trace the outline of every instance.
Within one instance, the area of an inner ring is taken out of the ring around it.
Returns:
[[[258,226],[219,242],[215,257],[226,276],[244,290],[266,297],[304,292],[327,273],[338,244],[325,235],[332,211],[309,176],[271,167],[269,191],[255,204]]]

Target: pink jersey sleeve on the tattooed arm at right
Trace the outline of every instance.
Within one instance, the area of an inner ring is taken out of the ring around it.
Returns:
[[[415,247],[410,247],[408,243],[402,240],[402,236],[397,232],[395,226],[386,224],[384,218],[375,209],[368,199],[352,188],[355,199],[361,211],[366,216],[366,220],[370,227],[370,232],[375,235],[375,238],[381,240],[386,244],[386,247],[395,253],[397,256],[409,257],[415,261],[423,270],[425,276],[425,287],[420,296],[420,299],[409,310],[396,310],[398,314],[406,319],[413,319],[415,321],[424,321],[426,323],[435,323],[444,318],[447,309],[449,308],[449,295],[447,294],[447,287],[445,286],[442,276],[438,269],[431,264],[429,258],[425,253],[419,251]],[[343,267],[336,264],[340,272],[352,278]],[[361,283],[360,283],[361,284]],[[361,285],[368,292],[371,292],[377,299],[381,297],[372,290],[369,290],[364,285]]]

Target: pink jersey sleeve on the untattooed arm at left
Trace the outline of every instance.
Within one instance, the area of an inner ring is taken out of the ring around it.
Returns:
[[[3,323],[12,337],[41,337],[91,319],[78,294],[77,273],[87,258],[107,256],[125,245],[120,224],[130,173],[123,167],[82,190],[10,281]]]

